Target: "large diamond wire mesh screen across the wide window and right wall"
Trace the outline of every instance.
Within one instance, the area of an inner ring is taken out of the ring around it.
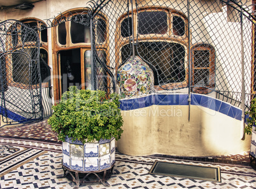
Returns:
[[[111,74],[101,77],[106,86],[115,84],[110,78],[117,69],[138,55],[152,68],[159,93],[207,94],[241,107],[245,91],[245,106],[250,106],[256,79],[253,6],[248,1],[105,3],[100,11],[106,20],[94,22],[94,30],[108,49],[104,57]],[[100,30],[103,25],[106,33]],[[96,51],[100,49],[96,41]]]

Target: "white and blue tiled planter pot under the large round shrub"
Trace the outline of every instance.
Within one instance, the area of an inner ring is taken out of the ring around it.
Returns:
[[[72,141],[66,137],[62,142],[62,165],[74,171],[101,171],[115,163],[115,138],[90,143]]]

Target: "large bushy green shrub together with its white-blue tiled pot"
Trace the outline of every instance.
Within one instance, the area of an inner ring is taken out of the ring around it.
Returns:
[[[48,124],[62,141],[62,166],[71,171],[102,171],[115,163],[115,140],[123,132],[116,93],[71,86],[53,106]]]

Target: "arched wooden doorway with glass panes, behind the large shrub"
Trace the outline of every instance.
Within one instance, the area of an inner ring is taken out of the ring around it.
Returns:
[[[57,16],[53,21],[53,74],[55,99],[58,100],[69,86],[80,89],[92,89],[91,38],[90,19],[87,10],[69,10]],[[96,16],[96,46],[97,55],[108,65],[107,20],[99,13]],[[96,67],[97,89],[107,90],[106,73],[101,67]]]

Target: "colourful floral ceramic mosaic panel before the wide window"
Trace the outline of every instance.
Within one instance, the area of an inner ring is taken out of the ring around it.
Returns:
[[[154,91],[153,71],[139,56],[131,57],[117,70],[117,83],[121,98],[150,94]]]

